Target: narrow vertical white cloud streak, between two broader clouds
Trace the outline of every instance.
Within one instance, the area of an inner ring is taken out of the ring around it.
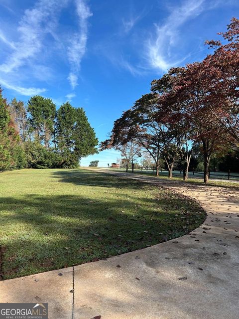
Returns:
[[[68,60],[71,64],[71,72],[68,80],[74,89],[78,84],[78,73],[80,70],[81,60],[86,52],[87,35],[88,35],[88,18],[92,16],[86,0],[75,0],[76,12],[78,16],[79,32],[71,38],[71,44],[67,48]]]

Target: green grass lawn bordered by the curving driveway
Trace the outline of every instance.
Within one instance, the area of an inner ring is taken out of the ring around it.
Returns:
[[[151,246],[197,228],[205,212],[167,189],[84,169],[0,173],[3,279]]]

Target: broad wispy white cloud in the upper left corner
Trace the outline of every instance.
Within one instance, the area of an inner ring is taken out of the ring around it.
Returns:
[[[45,91],[43,88],[24,88],[15,83],[20,81],[19,69],[24,66],[26,70],[30,62],[35,61],[40,54],[44,37],[56,28],[58,14],[67,2],[68,0],[39,0],[33,8],[26,9],[16,30],[19,38],[17,42],[8,40],[2,32],[0,33],[0,40],[12,48],[12,52],[0,64],[0,74],[4,79],[1,81],[2,85],[22,95]],[[7,74],[7,77],[4,74]]]

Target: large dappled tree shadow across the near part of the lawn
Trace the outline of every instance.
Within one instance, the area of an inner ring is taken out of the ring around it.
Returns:
[[[108,201],[79,195],[4,197],[0,210],[4,279],[151,246],[190,232],[206,215],[194,201],[168,192]],[[176,216],[179,210],[182,215]]]

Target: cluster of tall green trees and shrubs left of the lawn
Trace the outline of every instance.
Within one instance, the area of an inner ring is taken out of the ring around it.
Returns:
[[[33,96],[27,105],[7,102],[0,88],[0,171],[75,168],[97,153],[98,139],[83,108],[66,102],[56,110],[51,99]]]

